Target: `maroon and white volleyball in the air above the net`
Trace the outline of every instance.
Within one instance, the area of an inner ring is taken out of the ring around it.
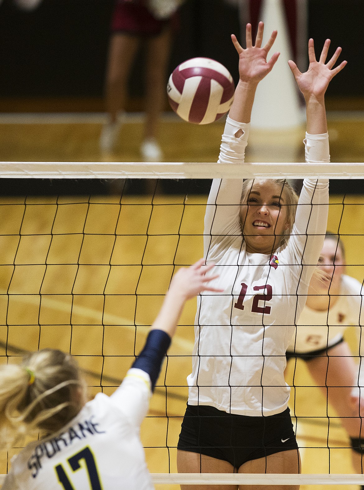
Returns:
[[[184,121],[213,123],[228,112],[234,81],[224,65],[211,58],[191,58],[173,71],[167,84],[172,109]]]

